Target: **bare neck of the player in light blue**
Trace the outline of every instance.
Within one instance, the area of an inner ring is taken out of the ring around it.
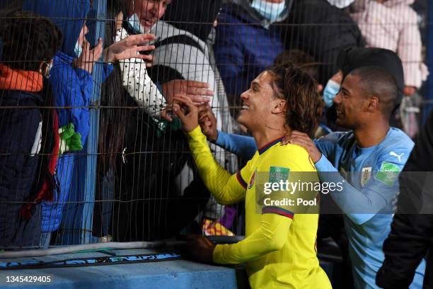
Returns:
[[[354,129],[353,134],[359,147],[374,147],[379,145],[388,134],[388,120],[377,120]]]

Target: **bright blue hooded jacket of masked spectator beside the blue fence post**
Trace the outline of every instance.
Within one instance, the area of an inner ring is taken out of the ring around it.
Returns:
[[[81,135],[84,145],[90,131],[90,114],[93,77],[86,70],[75,68],[72,63],[76,57],[74,48],[79,33],[91,9],[89,0],[25,0],[23,11],[33,11],[50,18],[63,32],[61,51],[54,57],[50,72],[50,83],[56,98],[59,128],[74,124]],[[103,80],[112,71],[112,65],[104,65]],[[73,107],[73,108],[61,108]],[[57,163],[57,176],[60,193],[54,194],[54,203],[42,204],[42,231],[52,232],[59,227],[62,218],[63,202],[67,200],[74,172],[75,156],[63,154]]]

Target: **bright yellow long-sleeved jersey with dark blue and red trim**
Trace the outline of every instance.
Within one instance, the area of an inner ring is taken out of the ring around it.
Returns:
[[[217,245],[214,262],[246,263],[252,288],[331,288],[316,256],[318,214],[295,215],[287,205],[264,205],[258,212],[257,175],[277,168],[274,176],[287,180],[289,171],[316,171],[308,152],[275,140],[231,175],[214,160],[200,127],[188,132],[187,138],[199,174],[217,201],[228,205],[245,200],[246,238]]]

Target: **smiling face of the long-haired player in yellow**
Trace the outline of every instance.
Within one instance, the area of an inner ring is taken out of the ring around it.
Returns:
[[[275,107],[273,77],[270,72],[262,72],[251,82],[250,89],[241,94],[243,106],[238,117],[238,122],[253,131],[265,125],[267,118]]]

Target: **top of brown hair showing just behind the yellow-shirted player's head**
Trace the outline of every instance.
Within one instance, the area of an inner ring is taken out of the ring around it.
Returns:
[[[314,80],[318,79],[318,62],[307,52],[298,49],[284,50],[275,58],[275,65],[291,62],[295,67],[299,67]]]

